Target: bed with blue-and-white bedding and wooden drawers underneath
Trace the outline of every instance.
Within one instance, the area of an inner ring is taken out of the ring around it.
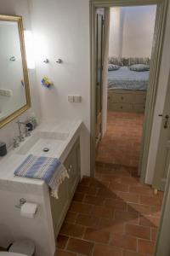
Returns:
[[[108,110],[144,113],[149,71],[123,66],[108,72]]]

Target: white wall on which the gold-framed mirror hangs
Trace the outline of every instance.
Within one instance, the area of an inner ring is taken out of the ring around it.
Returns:
[[[24,28],[31,29],[30,12],[28,6],[28,0],[0,0],[0,14],[1,15],[22,15]],[[32,108],[26,113],[22,114],[18,119],[27,119],[30,113],[34,112],[38,119],[41,119],[40,101],[37,96],[37,82],[36,71],[29,70],[29,80],[31,87],[31,105]],[[15,124],[17,119],[14,119],[8,125],[5,125],[0,129],[0,141],[7,143],[7,146],[13,143],[13,138],[18,136],[18,127]]]

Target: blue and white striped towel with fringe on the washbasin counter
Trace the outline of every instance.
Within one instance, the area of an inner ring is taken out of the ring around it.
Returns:
[[[45,156],[28,155],[14,171],[15,176],[42,179],[52,189],[51,195],[58,199],[59,185],[69,177],[65,166],[57,159]]]

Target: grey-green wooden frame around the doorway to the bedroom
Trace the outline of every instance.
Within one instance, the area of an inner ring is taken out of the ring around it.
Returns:
[[[150,136],[156,105],[156,95],[158,88],[158,79],[161,67],[161,54],[167,20],[168,0],[90,0],[90,84],[91,84],[91,132],[90,132],[90,174],[94,177],[95,172],[95,9],[107,7],[122,6],[143,6],[155,4],[156,22],[155,33],[152,44],[151,63],[150,63],[150,86],[147,91],[144,128],[141,142],[139,173],[140,181],[144,183],[148,154],[150,149]]]

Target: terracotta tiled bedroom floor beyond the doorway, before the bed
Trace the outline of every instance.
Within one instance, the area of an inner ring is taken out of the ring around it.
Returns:
[[[108,112],[107,131],[99,143],[97,162],[139,165],[143,113]]]

